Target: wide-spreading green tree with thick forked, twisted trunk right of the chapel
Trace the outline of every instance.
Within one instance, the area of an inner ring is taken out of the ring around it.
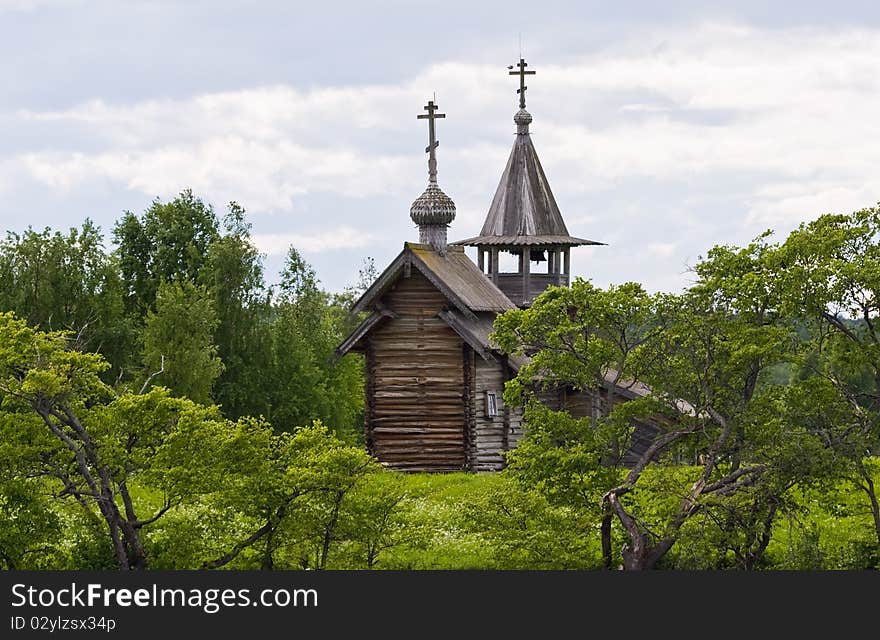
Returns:
[[[722,295],[709,276],[714,260],[710,256],[698,268],[700,284],[681,296],[648,297],[637,285],[595,295],[588,283],[576,280],[570,289],[551,289],[529,309],[496,322],[502,348],[531,355],[505,392],[511,402],[523,402],[523,390],[544,384],[601,390],[609,379],[624,386],[638,380],[651,390],[597,418],[598,441],[585,433],[589,421],[566,424],[570,417],[560,416],[556,431],[574,434],[560,439],[527,410],[526,446],[512,456],[512,468],[536,472],[538,486],[568,478],[570,489],[552,489],[558,495],[575,496],[580,488],[581,499],[589,500],[601,490],[603,508],[628,538],[622,550],[627,569],[656,566],[710,496],[726,498],[747,489],[771,464],[742,433],[744,425],[761,423],[754,419],[758,382],[785,358],[791,330],[769,308],[746,314]],[[736,279],[734,270],[728,273]],[[628,446],[638,421],[654,422],[659,432],[623,479],[608,486],[614,476],[599,475],[599,468]],[[638,502],[631,494],[637,494],[647,468],[682,463],[689,463],[689,484],[658,522],[647,526],[633,511]],[[597,476],[600,482],[593,481]],[[603,538],[609,537],[606,527]]]

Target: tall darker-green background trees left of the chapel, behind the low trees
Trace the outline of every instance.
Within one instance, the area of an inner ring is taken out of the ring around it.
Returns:
[[[279,430],[323,420],[356,437],[359,363],[330,360],[371,263],[331,295],[291,247],[269,287],[245,211],[230,203],[221,221],[191,191],[126,212],[113,251],[107,240],[88,220],[66,233],[7,233],[0,310],[71,332],[76,349],[104,357],[101,379],[118,390],[158,385],[233,420],[263,416]]]

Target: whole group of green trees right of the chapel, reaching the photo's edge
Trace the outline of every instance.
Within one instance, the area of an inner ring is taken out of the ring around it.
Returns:
[[[833,504],[847,486],[855,564],[877,567],[880,209],[716,246],[694,276],[680,294],[578,280],[496,321],[503,349],[531,355],[505,392],[529,425],[510,471],[592,513],[605,566],[628,569],[767,566],[780,521],[818,506],[805,492]],[[548,410],[547,385],[593,390],[595,415]]]

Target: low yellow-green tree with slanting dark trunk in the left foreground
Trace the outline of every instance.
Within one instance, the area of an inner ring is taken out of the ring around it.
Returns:
[[[57,484],[59,498],[103,522],[120,569],[143,569],[143,529],[216,480],[225,422],[161,388],[117,395],[99,376],[106,361],[71,338],[0,314],[0,428],[19,477]],[[138,500],[131,482],[150,484],[161,503]]]

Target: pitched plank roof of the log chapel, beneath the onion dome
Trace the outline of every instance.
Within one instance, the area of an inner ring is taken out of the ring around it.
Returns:
[[[480,311],[502,313],[516,306],[465,254],[463,247],[448,247],[440,255],[427,244],[406,242],[403,251],[355,302],[352,313],[369,311],[407,267],[415,267],[466,316]]]

